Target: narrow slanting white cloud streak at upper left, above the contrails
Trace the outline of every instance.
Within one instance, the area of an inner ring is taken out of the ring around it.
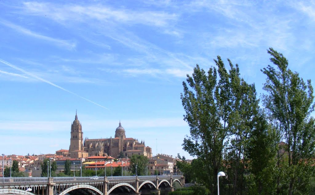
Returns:
[[[26,28],[23,28],[21,26],[15,25],[15,24],[13,24],[11,22],[8,22],[8,21],[0,20],[0,24],[4,25],[6,27],[12,28],[12,29],[14,29],[15,31],[17,31],[19,33],[22,33],[22,34],[25,34],[25,35],[28,35],[28,36],[31,36],[31,37],[34,37],[34,38],[37,38],[37,39],[45,40],[45,41],[51,42],[51,43],[56,44],[56,45],[61,46],[61,47],[66,47],[68,49],[74,49],[76,47],[76,44],[75,43],[71,43],[70,41],[57,39],[57,38],[52,38],[52,37],[48,37],[48,36],[45,36],[45,35],[41,35],[41,34],[32,32],[29,29],[26,29]]]

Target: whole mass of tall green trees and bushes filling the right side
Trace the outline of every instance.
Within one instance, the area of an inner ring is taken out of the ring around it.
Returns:
[[[183,148],[196,157],[178,161],[186,178],[205,194],[311,194],[314,189],[315,128],[313,87],[269,48],[272,65],[261,69],[266,82],[259,99],[238,64],[220,56],[206,72],[198,65],[181,94],[190,135]]]

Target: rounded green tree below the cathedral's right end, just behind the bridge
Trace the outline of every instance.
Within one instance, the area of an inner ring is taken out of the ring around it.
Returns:
[[[132,155],[129,161],[129,168],[132,174],[136,174],[136,166],[138,175],[146,174],[146,166],[148,166],[149,159],[143,155]]]

